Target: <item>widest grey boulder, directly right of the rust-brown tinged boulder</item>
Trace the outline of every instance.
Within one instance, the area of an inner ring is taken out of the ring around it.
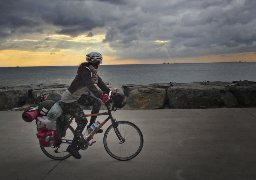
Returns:
[[[236,98],[224,86],[200,83],[173,84],[167,91],[173,109],[235,107]]]

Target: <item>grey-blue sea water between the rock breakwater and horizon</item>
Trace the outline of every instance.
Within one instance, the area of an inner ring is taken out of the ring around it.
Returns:
[[[78,66],[0,67],[0,85],[70,85]],[[157,82],[256,81],[256,62],[100,65],[98,74],[109,84]]]

